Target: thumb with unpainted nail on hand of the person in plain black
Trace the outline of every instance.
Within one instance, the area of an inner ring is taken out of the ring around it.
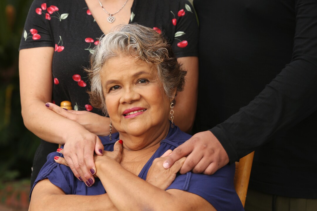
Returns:
[[[163,167],[165,169],[170,168],[177,160],[187,156],[193,150],[193,145],[189,144],[191,139],[185,141],[185,143],[176,147],[173,152],[168,156],[168,158],[164,161]]]

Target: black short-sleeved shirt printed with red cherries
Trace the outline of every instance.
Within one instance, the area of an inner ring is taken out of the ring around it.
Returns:
[[[197,19],[186,0],[134,0],[131,22],[164,33],[177,57],[198,55]],[[84,0],[35,0],[32,3],[20,49],[54,47],[53,101],[57,105],[68,100],[74,110],[102,115],[89,103],[90,84],[84,71],[101,35],[103,32]]]

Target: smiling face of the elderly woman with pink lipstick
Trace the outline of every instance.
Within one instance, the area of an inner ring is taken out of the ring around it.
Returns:
[[[101,71],[107,111],[120,133],[153,134],[169,127],[169,99],[157,70],[129,56],[108,60]]]

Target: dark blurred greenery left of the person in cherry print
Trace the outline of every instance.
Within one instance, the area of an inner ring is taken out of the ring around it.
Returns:
[[[27,210],[31,166],[40,143],[23,125],[19,44],[32,0],[0,0],[0,210]]]

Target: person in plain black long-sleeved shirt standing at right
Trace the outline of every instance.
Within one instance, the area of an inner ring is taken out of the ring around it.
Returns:
[[[193,171],[210,174],[256,150],[249,188],[316,200],[317,1],[195,0],[194,7],[194,129],[205,132],[176,149],[165,167],[191,153],[182,173],[199,162]]]

